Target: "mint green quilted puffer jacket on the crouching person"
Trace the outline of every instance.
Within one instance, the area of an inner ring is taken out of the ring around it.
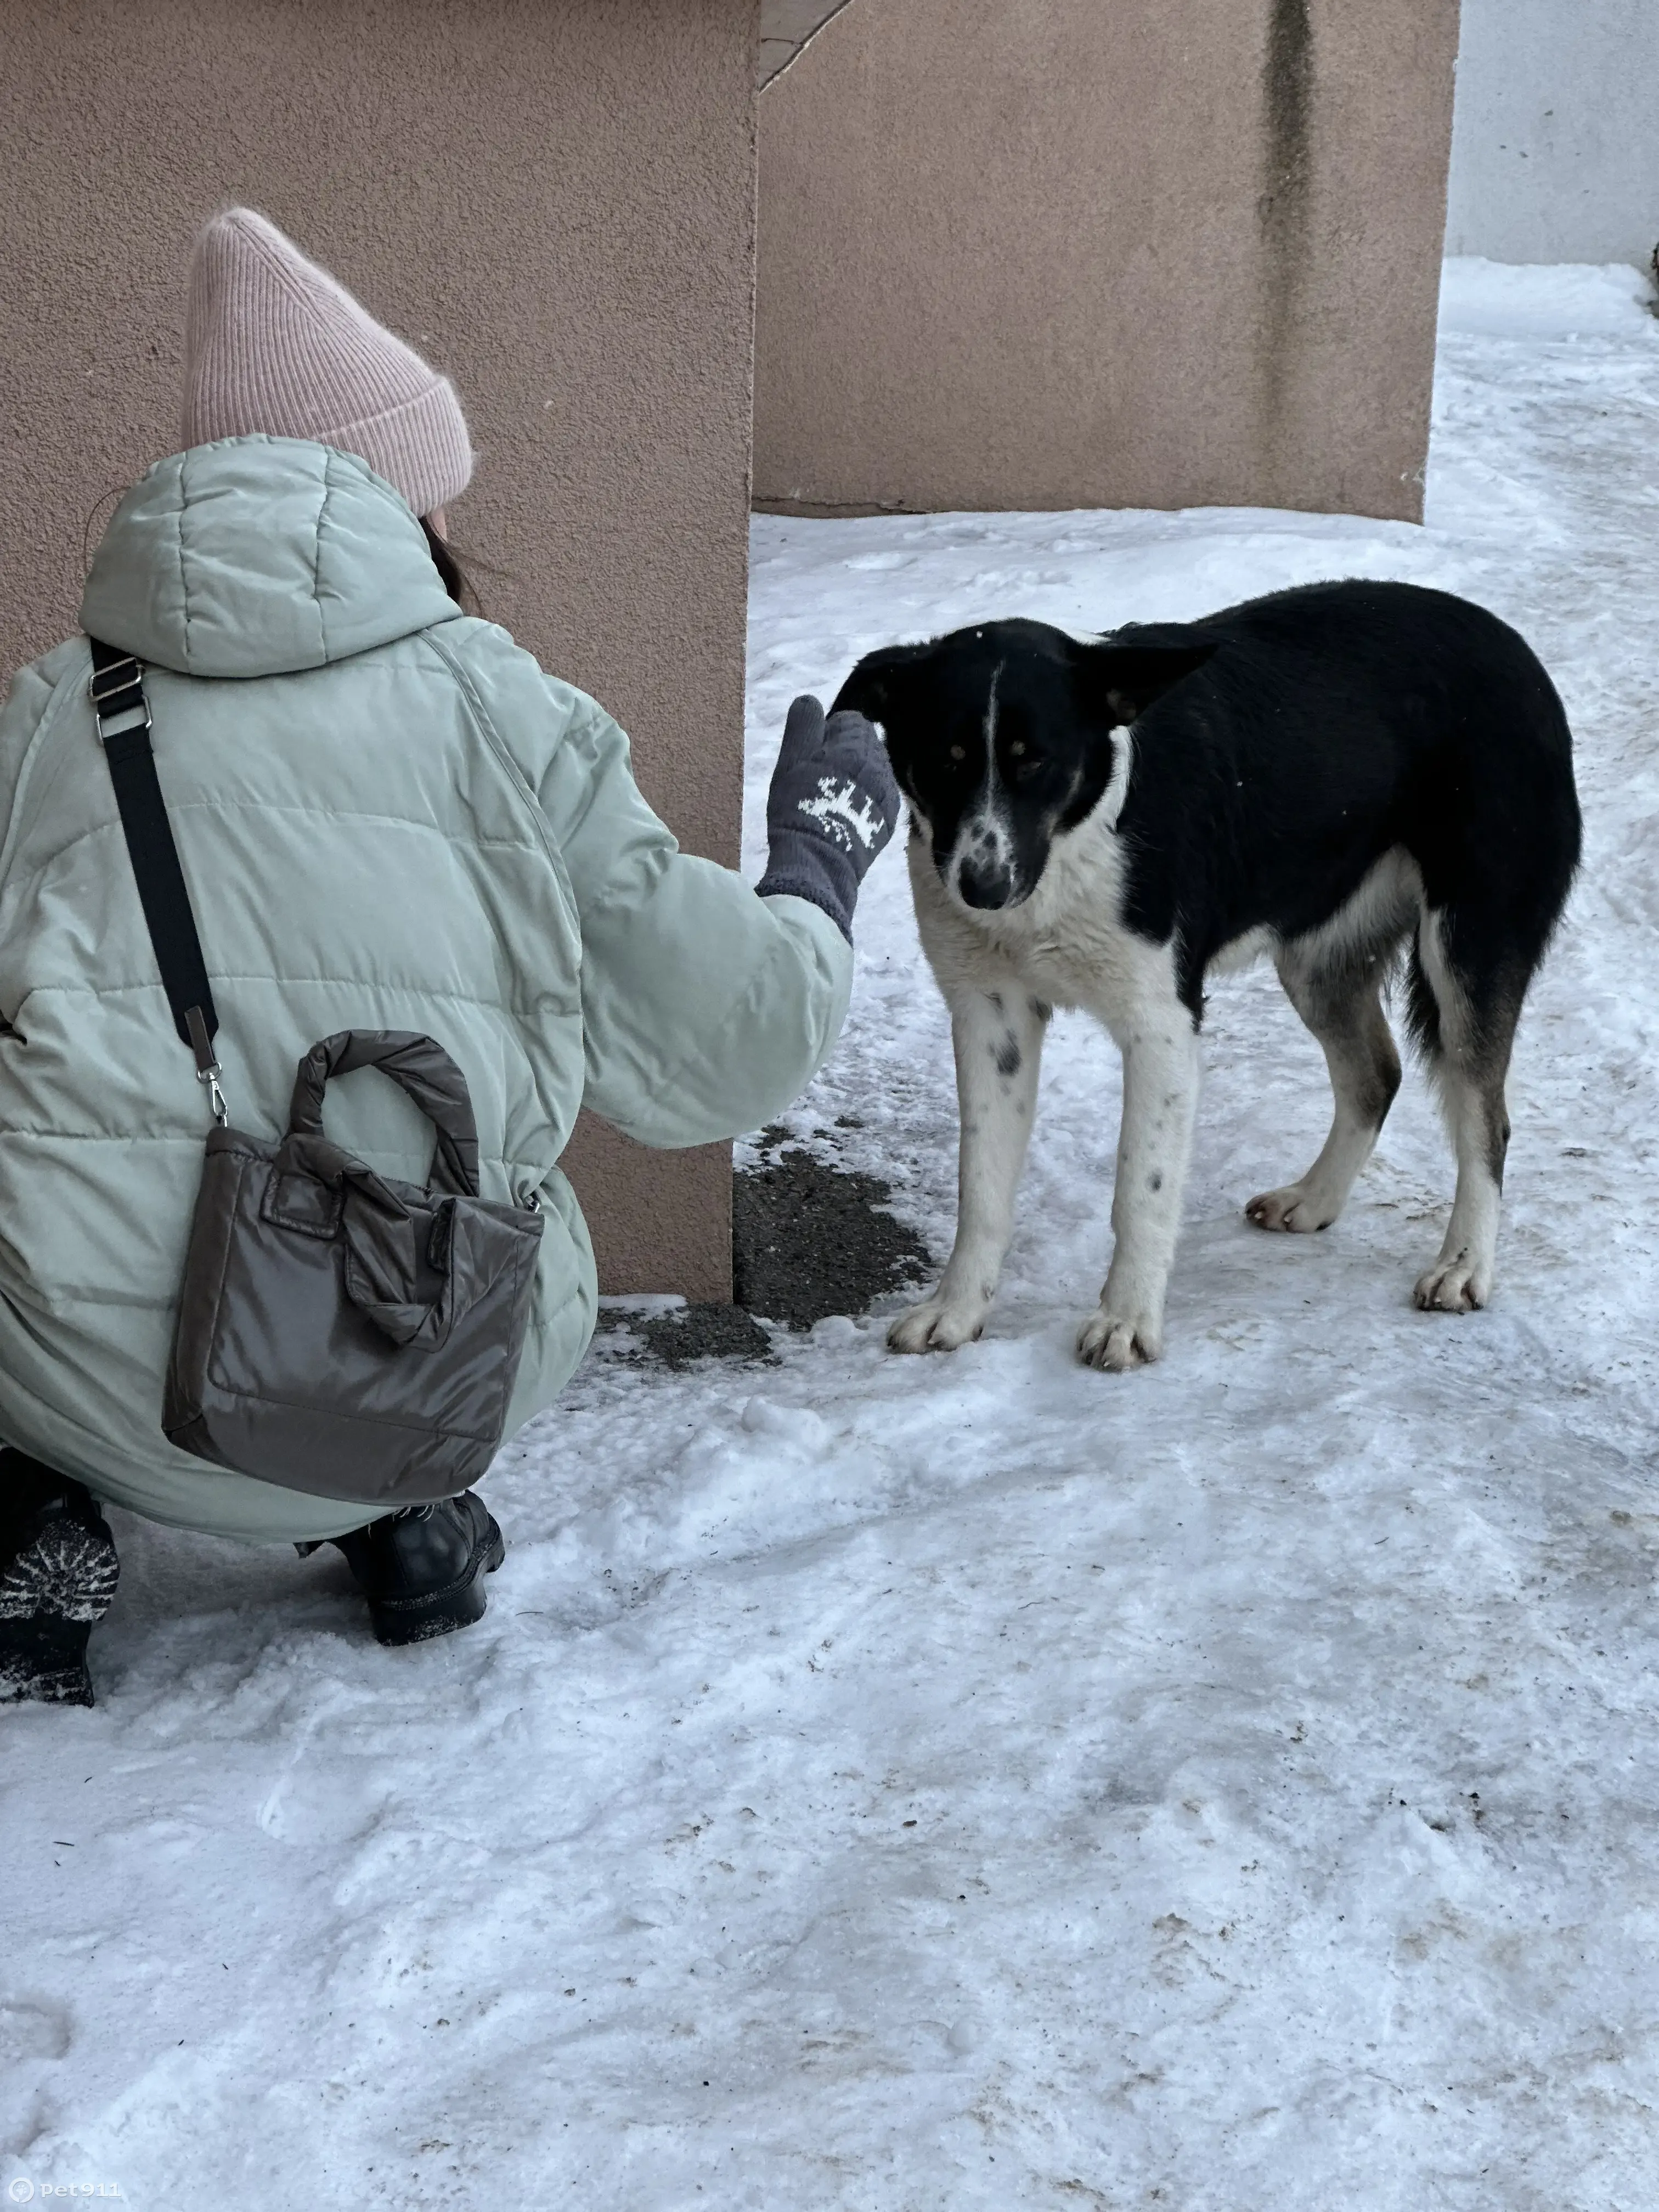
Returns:
[[[796,898],[688,858],[615,721],[445,595],[365,462],[228,438],[122,500],[84,626],[139,655],[219,1006],[232,1124],[276,1137],[336,1029],[418,1029],[465,1068],[487,1197],[546,1228],[509,1433],[593,1332],[557,1159],[584,1102],[653,1146],[785,1106],[834,1044],[852,956]],[[0,712],[0,1438],[186,1528],[310,1540],[363,1506],[161,1436],[208,1110],[150,951],[75,637]],[[431,1126],[374,1071],[330,1130],[425,1181]]]

